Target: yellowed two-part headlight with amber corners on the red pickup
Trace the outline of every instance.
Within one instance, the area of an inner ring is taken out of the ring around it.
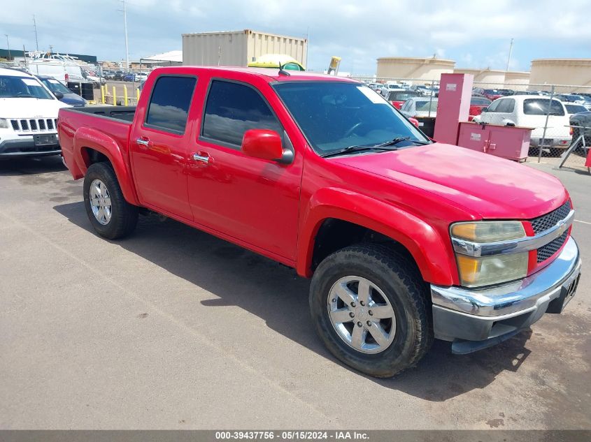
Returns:
[[[452,238],[473,244],[510,241],[525,237],[520,221],[478,221],[455,223]],[[472,249],[467,249],[472,250]],[[527,276],[529,253],[504,253],[492,256],[471,256],[456,249],[457,271],[464,287],[488,286]]]

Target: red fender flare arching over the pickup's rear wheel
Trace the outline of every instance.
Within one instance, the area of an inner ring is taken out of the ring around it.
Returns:
[[[121,187],[123,197],[127,202],[133,205],[139,205],[138,196],[131,178],[131,171],[123,159],[123,154],[117,142],[104,132],[94,128],[81,127],[74,134],[73,156],[76,166],[83,175],[86,175],[90,159],[86,149],[94,149],[101,152],[111,161],[113,170]]]

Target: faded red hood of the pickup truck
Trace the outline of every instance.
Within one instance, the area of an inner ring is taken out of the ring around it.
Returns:
[[[334,161],[438,194],[483,219],[532,219],[568,198],[560,180],[552,175],[440,143],[335,157]]]

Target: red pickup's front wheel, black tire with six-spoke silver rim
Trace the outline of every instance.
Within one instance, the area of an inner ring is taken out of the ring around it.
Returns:
[[[380,244],[325,258],[310,288],[315,329],[329,351],[365,374],[413,367],[433,341],[427,285],[408,258]]]

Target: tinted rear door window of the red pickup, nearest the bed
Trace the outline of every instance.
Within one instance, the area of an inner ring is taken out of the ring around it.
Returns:
[[[156,80],[145,126],[183,134],[197,78],[163,76]]]

